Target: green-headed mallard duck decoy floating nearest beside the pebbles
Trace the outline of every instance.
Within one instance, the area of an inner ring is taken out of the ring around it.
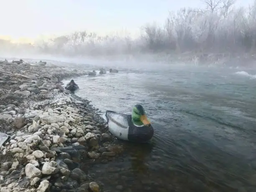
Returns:
[[[105,118],[109,131],[119,139],[145,143],[154,135],[154,128],[148,121],[144,108],[139,104],[133,107],[131,115],[107,110]]]

